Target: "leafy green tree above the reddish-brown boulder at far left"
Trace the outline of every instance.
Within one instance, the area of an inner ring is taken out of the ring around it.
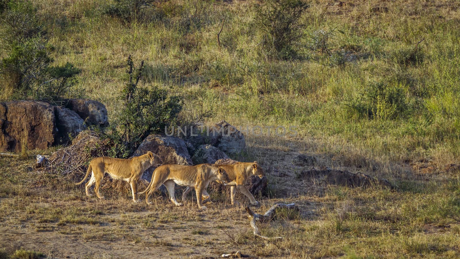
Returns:
[[[59,99],[73,85],[81,70],[69,63],[52,65],[54,60],[50,54],[54,48],[48,43],[49,34],[29,1],[10,0],[2,3],[2,87],[14,90],[12,99]]]

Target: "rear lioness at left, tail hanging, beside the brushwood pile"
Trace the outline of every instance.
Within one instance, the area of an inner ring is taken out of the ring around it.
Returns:
[[[89,163],[88,170],[86,171],[85,178],[81,182],[76,183],[79,185],[82,182],[85,182],[86,178],[89,175],[89,172],[92,172],[91,178],[85,185],[85,191],[87,196],[89,194],[89,188],[96,182],[94,187],[94,192],[99,199],[104,199],[104,196],[99,192],[99,186],[101,185],[102,178],[107,173],[112,179],[119,179],[126,182],[129,182],[131,185],[132,200],[137,202],[136,194],[138,188],[138,181],[142,178],[144,171],[151,166],[160,166],[162,164],[161,158],[156,154],[148,151],[147,153],[133,157],[130,159],[118,159],[110,157],[98,157],[92,159]]]

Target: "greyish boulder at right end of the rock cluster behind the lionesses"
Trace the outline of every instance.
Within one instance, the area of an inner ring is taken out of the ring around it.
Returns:
[[[246,148],[241,131],[224,120],[209,129],[210,144],[226,153],[240,153]]]

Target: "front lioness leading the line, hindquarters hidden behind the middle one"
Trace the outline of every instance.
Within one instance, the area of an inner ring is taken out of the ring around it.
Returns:
[[[260,204],[259,201],[254,199],[253,194],[251,194],[245,186],[247,177],[254,175],[254,176],[258,176],[262,178],[265,175],[259,163],[257,163],[257,161],[254,161],[253,163],[238,162],[233,165],[217,165],[217,166],[224,168],[230,178],[231,182],[227,183],[226,185],[230,185],[230,198],[231,198],[232,205],[235,205],[236,203],[235,202],[236,189],[238,189],[240,192],[242,192],[242,194],[246,195],[246,197],[249,198],[250,205],[258,206]],[[221,183],[219,181],[215,181],[215,182]],[[209,194],[207,194],[206,188],[207,186],[203,189],[203,194],[202,194],[203,200],[209,199]],[[182,193],[182,197],[185,197],[190,192],[190,190],[191,190],[191,187],[185,188],[184,192]]]

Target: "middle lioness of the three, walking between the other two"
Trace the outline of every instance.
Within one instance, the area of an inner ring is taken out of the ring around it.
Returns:
[[[203,206],[201,201],[202,192],[210,181],[215,180],[223,183],[230,182],[225,170],[220,166],[212,164],[161,165],[153,172],[149,186],[144,191],[140,192],[140,194],[147,192],[147,194],[145,194],[145,201],[147,204],[150,204],[150,194],[163,184],[168,189],[169,199],[176,206],[182,206],[183,204],[178,203],[174,196],[174,183],[187,187],[195,187],[198,207],[200,209],[206,209],[206,206]]]

